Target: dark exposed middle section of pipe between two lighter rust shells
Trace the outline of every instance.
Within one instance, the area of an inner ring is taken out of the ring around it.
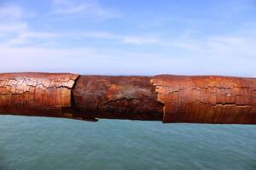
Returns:
[[[161,121],[151,77],[81,76],[73,89],[78,116]]]

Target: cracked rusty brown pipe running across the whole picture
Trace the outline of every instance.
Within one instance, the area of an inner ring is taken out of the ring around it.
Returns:
[[[2,73],[0,115],[256,124],[256,78]]]

